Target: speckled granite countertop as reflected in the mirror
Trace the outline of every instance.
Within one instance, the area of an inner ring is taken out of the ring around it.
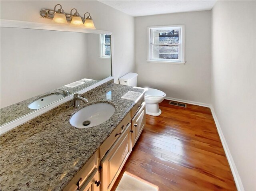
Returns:
[[[99,81],[92,80],[92,79],[82,79],[77,82],[82,82],[83,84],[77,85],[75,87],[68,87],[68,85],[62,86],[59,89],[54,89],[52,91],[49,91],[47,93],[43,93],[37,96],[34,96],[32,98],[23,100],[21,102],[12,104],[10,106],[4,107],[0,109],[1,118],[0,118],[0,125],[4,125],[12,120],[15,120],[17,118],[20,118],[28,113],[36,111],[35,109],[28,108],[28,105],[34,102],[35,100],[38,100],[40,98],[43,98],[44,96],[56,94],[56,93],[62,93],[60,89],[66,90],[69,92],[69,94],[75,93],[77,91],[80,91],[81,89],[84,89],[86,87],[89,87]]]

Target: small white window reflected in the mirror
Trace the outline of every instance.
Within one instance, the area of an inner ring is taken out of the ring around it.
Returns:
[[[100,34],[100,57],[110,58],[110,34]]]

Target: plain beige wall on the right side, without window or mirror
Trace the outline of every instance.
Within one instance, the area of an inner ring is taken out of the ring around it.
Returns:
[[[212,10],[212,105],[245,190],[255,187],[255,1]]]

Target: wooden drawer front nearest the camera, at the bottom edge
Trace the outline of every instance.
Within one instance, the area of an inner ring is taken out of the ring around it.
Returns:
[[[68,185],[63,189],[63,191],[76,191],[78,186],[77,183],[80,181],[79,185],[83,185],[92,172],[98,168],[98,150],[89,159],[89,161],[82,167],[82,169],[76,174],[76,176],[68,183]],[[97,169],[98,171],[98,169]],[[80,180],[81,179],[81,180]]]

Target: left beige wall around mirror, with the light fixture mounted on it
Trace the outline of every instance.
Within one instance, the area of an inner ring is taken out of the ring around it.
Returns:
[[[114,39],[114,80],[134,71],[134,17],[122,13],[98,1],[2,1],[1,19],[49,23],[39,12],[42,8],[53,9],[62,4],[66,13],[76,8],[81,16],[90,12],[95,27],[113,32]]]

